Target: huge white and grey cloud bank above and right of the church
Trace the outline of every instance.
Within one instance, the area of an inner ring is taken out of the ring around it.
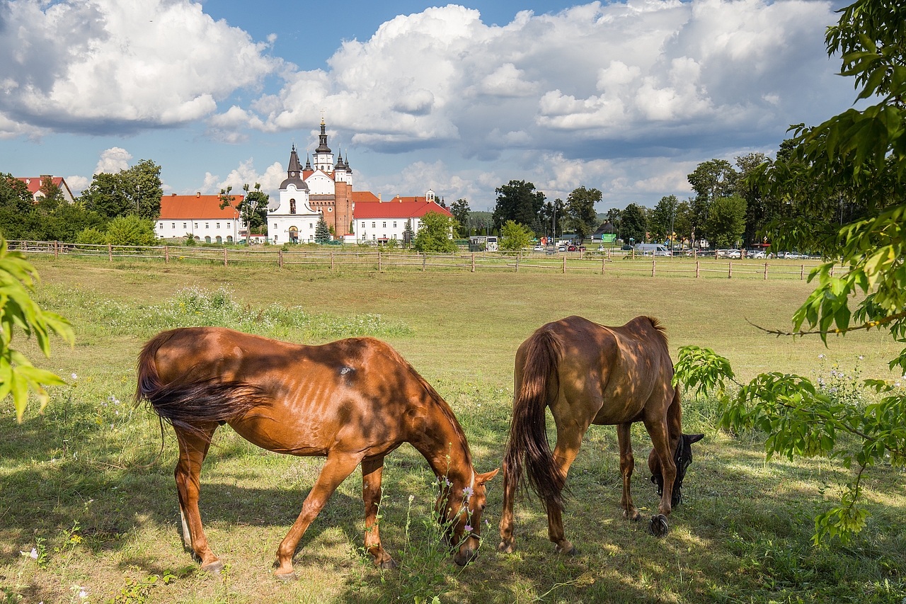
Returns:
[[[611,141],[669,139],[688,150],[704,136],[776,139],[788,123],[850,101],[842,79],[827,90],[833,22],[829,2],[804,0],[593,2],[523,12],[503,27],[463,6],[434,7],[344,42],[327,71],[286,73],[279,93],[210,123],[307,130],[326,107],[354,145],[454,145],[481,157],[514,146],[566,151],[576,137],[589,159]]]

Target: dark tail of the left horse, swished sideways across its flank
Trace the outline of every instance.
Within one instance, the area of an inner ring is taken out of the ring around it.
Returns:
[[[177,330],[149,340],[139,355],[135,402],[148,401],[154,412],[174,428],[208,437],[200,426],[223,424],[246,416],[252,409],[271,404],[264,388],[219,377],[198,378],[189,371],[163,384],[155,357]]]

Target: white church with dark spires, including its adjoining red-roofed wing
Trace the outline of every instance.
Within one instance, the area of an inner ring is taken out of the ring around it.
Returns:
[[[323,216],[335,240],[386,242],[401,239],[407,220],[417,232],[419,219],[425,213],[438,211],[449,215],[448,209],[437,203],[432,190],[425,197],[405,198],[410,203],[402,203],[403,200],[398,195],[394,198],[396,203],[381,202],[380,197],[371,191],[353,191],[349,153],[344,160],[342,151],[338,152],[334,161],[322,119],[314,157],[306,155],[303,166],[295,145],[290,151],[286,179],[280,183],[279,199],[273,200],[267,208],[267,240],[277,245],[312,243],[318,220]],[[359,204],[358,210],[356,203]],[[355,220],[360,218],[371,222],[360,220],[361,228],[358,234],[353,234]],[[381,219],[381,228],[377,226],[378,219]],[[392,228],[388,226],[388,219]]]

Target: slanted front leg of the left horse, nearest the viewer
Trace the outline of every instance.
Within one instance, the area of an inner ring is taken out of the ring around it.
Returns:
[[[274,571],[274,574],[279,579],[295,579],[293,554],[296,546],[299,545],[299,540],[302,539],[305,530],[308,529],[308,525],[317,517],[324,504],[336,491],[336,488],[355,470],[355,466],[359,465],[359,462],[361,462],[361,454],[339,453],[336,451],[327,454],[327,462],[324,463],[321,475],[318,476],[318,482],[314,483],[311,492],[305,498],[299,517],[295,520],[289,532],[286,533],[284,540],[280,542],[280,547],[277,548],[277,563],[279,566]]]

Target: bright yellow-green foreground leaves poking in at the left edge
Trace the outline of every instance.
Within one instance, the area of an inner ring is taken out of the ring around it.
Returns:
[[[38,396],[41,409],[50,400],[44,385],[65,385],[53,373],[32,365],[28,357],[13,347],[19,330],[34,342],[44,356],[50,357],[50,336],[56,334],[70,345],[75,341],[69,321],[56,313],[43,310],[32,299],[38,283],[38,272],[18,251],[9,251],[0,236],[0,401],[13,395],[15,416],[22,422],[28,391]],[[73,375],[74,377],[74,375]]]

